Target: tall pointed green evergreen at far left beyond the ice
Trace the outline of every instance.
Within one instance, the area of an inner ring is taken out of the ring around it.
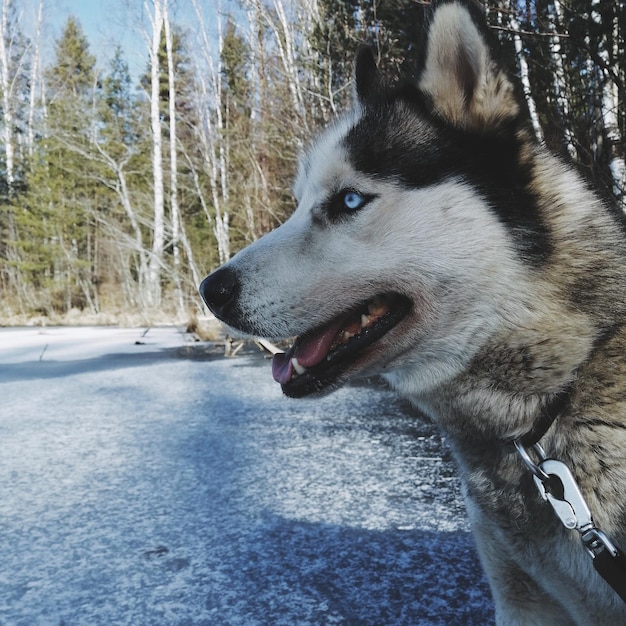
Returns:
[[[29,193],[20,216],[21,246],[29,283],[42,294],[45,313],[98,309],[93,212],[101,189],[89,155],[98,90],[95,57],[78,21],[70,17],[46,72],[46,129],[31,165]]]

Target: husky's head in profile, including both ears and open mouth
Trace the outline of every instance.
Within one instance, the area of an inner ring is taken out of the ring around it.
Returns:
[[[544,262],[520,106],[480,18],[438,5],[424,59],[389,84],[359,51],[354,110],[301,159],[294,214],[202,283],[228,325],[298,337],[274,359],[287,395],[380,371],[432,388],[515,317],[509,286]]]

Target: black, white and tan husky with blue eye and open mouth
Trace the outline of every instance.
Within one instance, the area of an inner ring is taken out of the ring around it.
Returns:
[[[624,226],[534,140],[485,30],[473,5],[434,4],[414,81],[361,49],[296,211],[201,293],[240,331],[297,336],[273,362],[286,395],[381,373],[440,425],[499,624],[623,626],[511,442],[541,438],[626,547]]]

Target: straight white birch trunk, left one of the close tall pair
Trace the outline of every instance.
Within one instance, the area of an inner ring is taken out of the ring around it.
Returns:
[[[165,243],[165,189],[163,184],[163,137],[159,107],[159,48],[163,29],[163,3],[167,0],[153,0],[154,12],[144,4],[152,23],[152,43],[150,47],[150,122],[152,128],[152,177],[154,184],[154,224],[152,254],[148,265],[147,293],[149,304],[158,308],[161,305],[161,269]]]

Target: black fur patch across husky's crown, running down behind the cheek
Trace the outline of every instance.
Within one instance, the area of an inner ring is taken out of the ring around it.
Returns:
[[[520,255],[540,267],[550,257],[550,233],[530,191],[532,166],[520,158],[518,125],[513,120],[494,134],[452,128],[430,113],[416,87],[403,84],[370,101],[344,145],[355,169],[407,187],[466,179],[507,228]]]

